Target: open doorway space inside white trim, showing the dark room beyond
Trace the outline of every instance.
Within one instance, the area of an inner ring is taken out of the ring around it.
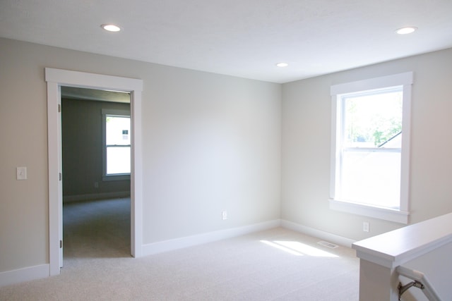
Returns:
[[[61,87],[65,266],[131,255],[130,124],[129,92]]]

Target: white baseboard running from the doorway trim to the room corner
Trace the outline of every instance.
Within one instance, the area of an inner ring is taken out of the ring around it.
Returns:
[[[217,240],[223,240],[226,238],[234,238],[240,235],[248,233],[264,231],[280,226],[280,220],[275,219],[273,221],[266,221],[263,223],[255,223],[249,226],[230,228],[220,231],[213,231],[209,233],[203,233],[198,235],[186,236],[184,238],[175,238],[172,240],[164,240],[161,242],[153,242],[147,245],[143,245],[142,254],[148,256],[152,254],[182,249],[184,247],[191,247],[194,245],[202,245],[207,242],[214,242]]]

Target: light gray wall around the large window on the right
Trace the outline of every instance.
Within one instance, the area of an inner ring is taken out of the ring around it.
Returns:
[[[404,226],[329,209],[330,87],[408,71],[415,77],[410,223],[452,211],[452,49],[446,49],[283,85],[282,219],[353,240]]]

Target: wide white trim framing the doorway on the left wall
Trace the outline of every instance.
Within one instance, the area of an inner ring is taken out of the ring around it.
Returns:
[[[61,161],[61,86],[83,87],[131,93],[131,255],[142,256],[143,170],[141,140],[141,93],[143,80],[121,78],[71,70],[45,68],[47,82],[47,143],[49,164],[49,276],[58,275],[62,266],[59,240],[63,238],[63,192],[59,173]]]

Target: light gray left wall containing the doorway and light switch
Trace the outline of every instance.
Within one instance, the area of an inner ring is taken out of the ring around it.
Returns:
[[[280,85],[0,39],[0,272],[49,262],[45,67],[143,80],[144,244],[279,219]]]

